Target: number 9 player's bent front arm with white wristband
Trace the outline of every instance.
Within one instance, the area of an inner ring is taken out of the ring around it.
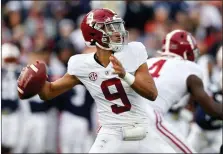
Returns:
[[[110,57],[113,64],[115,74],[123,78],[138,94],[154,101],[158,95],[155,83],[152,76],[148,73],[147,64],[144,63],[139,66],[135,72],[135,76],[125,72],[122,64],[113,55]]]

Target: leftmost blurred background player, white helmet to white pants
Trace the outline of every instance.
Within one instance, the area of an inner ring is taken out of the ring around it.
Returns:
[[[19,141],[20,103],[17,93],[17,78],[22,66],[19,64],[19,48],[12,43],[2,45],[2,152],[11,153]]]

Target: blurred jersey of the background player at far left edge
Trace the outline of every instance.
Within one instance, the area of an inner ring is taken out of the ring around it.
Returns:
[[[14,68],[1,68],[2,73],[2,98],[1,110],[3,114],[16,111],[19,107],[19,98],[17,93],[17,79],[21,71],[20,66]]]

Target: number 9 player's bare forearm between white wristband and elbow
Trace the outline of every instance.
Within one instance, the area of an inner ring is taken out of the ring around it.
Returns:
[[[158,95],[154,81],[143,80],[142,78],[136,78],[134,83],[131,85],[132,89],[135,90],[139,95],[144,98],[155,101]]]

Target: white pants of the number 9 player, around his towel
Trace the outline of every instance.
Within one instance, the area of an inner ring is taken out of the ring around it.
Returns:
[[[101,127],[89,153],[176,153],[154,128],[150,126],[144,128],[147,130],[145,138],[125,141],[122,138],[121,128]]]

